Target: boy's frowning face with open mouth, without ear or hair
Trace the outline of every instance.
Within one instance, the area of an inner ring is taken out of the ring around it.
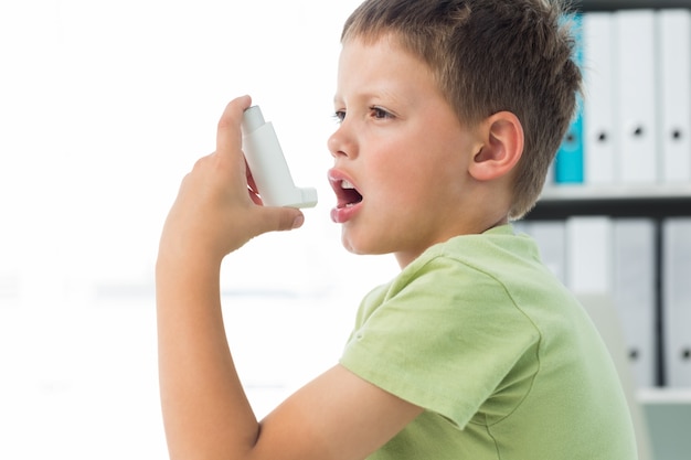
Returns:
[[[468,164],[480,143],[425,63],[387,36],[351,40],[340,56],[334,108],[341,124],[329,138],[338,200],[331,217],[343,225],[346,248],[394,253],[403,267],[470,232]],[[343,190],[350,186],[355,191]]]

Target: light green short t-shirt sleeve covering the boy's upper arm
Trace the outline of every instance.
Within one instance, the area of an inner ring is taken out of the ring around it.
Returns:
[[[502,284],[457,260],[434,257],[379,292],[341,364],[459,428],[536,354],[539,332]]]

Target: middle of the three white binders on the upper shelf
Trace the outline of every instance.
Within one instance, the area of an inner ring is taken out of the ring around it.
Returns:
[[[655,11],[613,14],[619,182],[652,184],[658,180]]]

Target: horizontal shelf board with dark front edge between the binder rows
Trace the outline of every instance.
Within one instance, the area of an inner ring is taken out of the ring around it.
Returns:
[[[563,220],[576,215],[612,217],[691,216],[689,185],[545,186],[527,220]]]

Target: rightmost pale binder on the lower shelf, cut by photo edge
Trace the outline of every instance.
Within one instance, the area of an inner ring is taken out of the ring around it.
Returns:
[[[691,217],[669,217],[662,232],[665,383],[691,386]]]

